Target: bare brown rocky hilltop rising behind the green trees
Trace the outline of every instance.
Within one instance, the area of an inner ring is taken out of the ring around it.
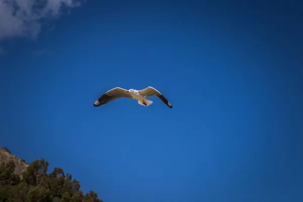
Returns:
[[[29,164],[27,164],[24,160],[13,155],[8,148],[0,147],[0,165],[2,165],[4,162],[7,163],[10,160],[13,160],[16,165],[14,173],[17,175],[20,175],[29,166]]]

